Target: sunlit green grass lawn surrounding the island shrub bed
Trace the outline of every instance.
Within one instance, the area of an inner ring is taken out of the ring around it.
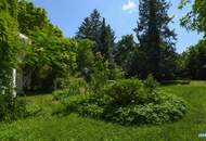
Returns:
[[[188,86],[165,86],[162,89],[182,97],[189,104],[186,116],[162,126],[123,127],[101,120],[82,118],[76,114],[52,116],[59,106],[52,95],[28,97],[42,107],[40,115],[12,124],[0,124],[0,140],[25,141],[202,141],[206,133],[206,82]]]

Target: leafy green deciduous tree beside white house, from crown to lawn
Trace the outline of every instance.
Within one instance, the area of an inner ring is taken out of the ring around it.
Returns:
[[[51,24],[44,9],[27,0],[20,0],[17,5],[20,31],[33,42],[23,66],[24,76],[31,79],[25,88],[52,90],[55,79],[76,72],[76,49],[72,51],[72,46],[75,48],[77,43],[63,38],[62,30]]]

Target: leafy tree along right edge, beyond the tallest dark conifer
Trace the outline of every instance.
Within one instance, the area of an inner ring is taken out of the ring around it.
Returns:
[[[182,0],[180,9],[191,1]],[[184,52],[185,73],[192,79],[206,79],[206,1],[194,0],[192,10],[181,18],[181,25],[188,30],[197,30],[204,37],[196,46]]]

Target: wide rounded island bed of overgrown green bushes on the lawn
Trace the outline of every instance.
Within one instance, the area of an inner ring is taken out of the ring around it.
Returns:
[[[66,113],[75,112],[121,125],[163,124],[182,118],[186,112],[184,101],[156,86],[152,77],[144,82],[121,79],[103,86],[95,93],[70,95],[62,91],[59,100]]]

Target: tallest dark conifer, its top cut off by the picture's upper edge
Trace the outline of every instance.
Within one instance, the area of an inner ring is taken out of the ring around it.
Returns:
[[[140,0],[140,16],[134,31],[140,41],[139,50],[145,55],[144,65],[140,66],[144,69],[139,72],[143,78],[153,74],[157,79],[168,79],[171,75],[169,69],[176,60],[176,34],[168,26],[172,21],[167,14],[169,7],[166,0]]]

